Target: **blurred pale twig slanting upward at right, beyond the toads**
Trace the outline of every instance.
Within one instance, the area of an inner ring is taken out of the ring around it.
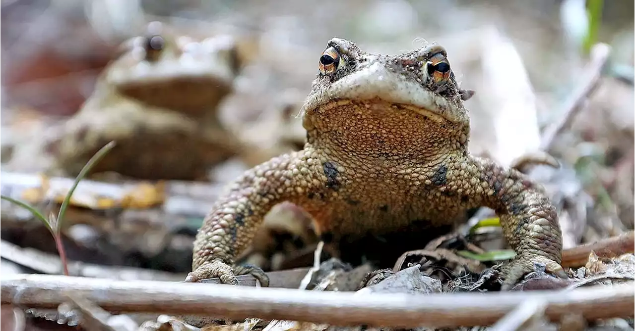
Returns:
[[[576,91],[565,101],[563,111],[559,112],[564,114],[564,116],[559,122],[549,125],[549,127],[544,130],[542,141],[540,142],[540,149],[542,151],[551,151],[556,137],[568,128],[575,116],[584,109],[584,104],[588,97],[596,91],[599,86],[602,71],[608,62],[610,53],[611,48],[607,44],[596,44],[592,47],[591,61],[584,70],[585,75],[582,78],[582,83],[578,85]]]

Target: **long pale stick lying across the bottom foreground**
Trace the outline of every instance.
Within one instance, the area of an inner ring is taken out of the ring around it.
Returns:
[[[18,295],[19,292],[19,295]],[[51,275],[0,276],[0,304],[55,308],[67,293],[116,312],[170,315],[257,317],[412,328],[491,325],[519,304],[544,301],[545,316],[558,321],[578,312],[584,318],[635,316],[635,285],[570,291],[410,294],[360,294],[241,287],[218,284],[126,282]]]

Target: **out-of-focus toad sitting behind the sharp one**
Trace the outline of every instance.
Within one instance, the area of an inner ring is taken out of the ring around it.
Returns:
[[[80,111],[48,132],[51,168],[75,176],[98,149],[116,141],[92,173],[194,180],[241,153],[242,142],[217,116],[239,73],[232,37],[195,40],[152,22],[146,35],[122,48]]]

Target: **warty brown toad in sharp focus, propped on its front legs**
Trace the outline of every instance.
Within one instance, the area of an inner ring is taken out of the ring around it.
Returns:
[[[282,201],[309,212],[333,242],[413,223],[451,225],[467,209],[487,206],[517,253],[502,270],[504,289],[534,263],[566,277],[558,215],[542,187],[468,153],[463,101],[471,92],[459,89],[451,71],[428,70],[428,61],[448,63],[443,47],[384,56],[334,38],[325,52],[340,64],[313,82],[303,108],[304,149],[248,170],[217,201],[197,234],[186,281],[237,284],[234,275],[251,273],[267,285],[260,270],[232,265]]]

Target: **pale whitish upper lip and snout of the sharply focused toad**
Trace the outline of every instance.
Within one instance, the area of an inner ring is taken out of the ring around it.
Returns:
[[[383,101],[378,104],[399,105],[400,108],[438,120],[445,119],[453,123],[467,120],[462,104],[425,89],[412,78],[401,75],[380,61],[340,78],[324,91],[313,92],[302,111],[311,113],[327,105],[331,108],[334,103],[373,99]]]

